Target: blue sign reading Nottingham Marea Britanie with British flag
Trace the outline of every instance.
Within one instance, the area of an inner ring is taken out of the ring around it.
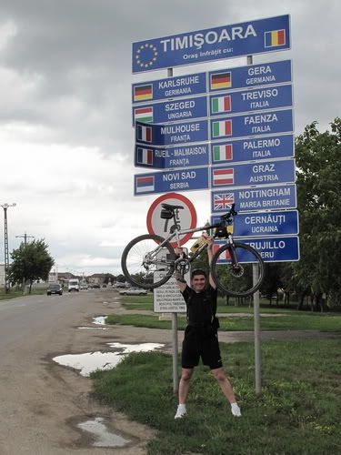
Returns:
[[[297,207],[296,185],[227,188],[212,191],[212,213],[226,212],[236,204],[238,212],[280,210]]]

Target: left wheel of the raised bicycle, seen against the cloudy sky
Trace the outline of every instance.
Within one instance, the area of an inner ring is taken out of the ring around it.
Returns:
[[[174,272],[176,254],[166,243],[155,251],[165,238],[145,234],[134,238],[125,247],[121,267],[125,278],[137,288],[153,289],[165,284]]]

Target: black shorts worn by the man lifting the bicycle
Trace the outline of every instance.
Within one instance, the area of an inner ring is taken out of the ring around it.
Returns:
[[[217,333],[209,328],[187,326],[181,355],[182,368],[193,369],[200,357],[210,369],[222,368]]]

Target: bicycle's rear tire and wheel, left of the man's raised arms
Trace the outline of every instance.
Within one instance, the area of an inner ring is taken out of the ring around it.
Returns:
[[[148,268],[144,266],[145,254],[155,249],[157,243],[164,241],[165,238],[160,236],[145,234],[144,236],[134,238],[128,243],[122,253],[121,267],[125,279],[130,284],[137,288],[154,289],[159,288],[172,277],[174,263],[169,263],[169,260],[174,261],[176,259],[176,253],[168,242],[163,247],[167,249],[166,255],[168,257],[168,262],[163,265],[165,269],[157,268],[153,263],[148,265]],[[155,271],[165,271],[165,276],[155,281]]]

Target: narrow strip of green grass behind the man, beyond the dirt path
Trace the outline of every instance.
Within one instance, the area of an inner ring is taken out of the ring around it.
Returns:
[[[186,317],[178,319],[178,328],[186,328]],[[221,317],[220,330],[241,331],[253,330],[253,318],[225,318]],[[171,321],[159,320],[158,316],[132,315],[109,315],[107,324],[122,324],[125,326],[145,327],[149,329],[171,329]],[[341,331],[341,316],[296,313],[283,317],[261,318],[262,330],[319,330],[319,331]]]

